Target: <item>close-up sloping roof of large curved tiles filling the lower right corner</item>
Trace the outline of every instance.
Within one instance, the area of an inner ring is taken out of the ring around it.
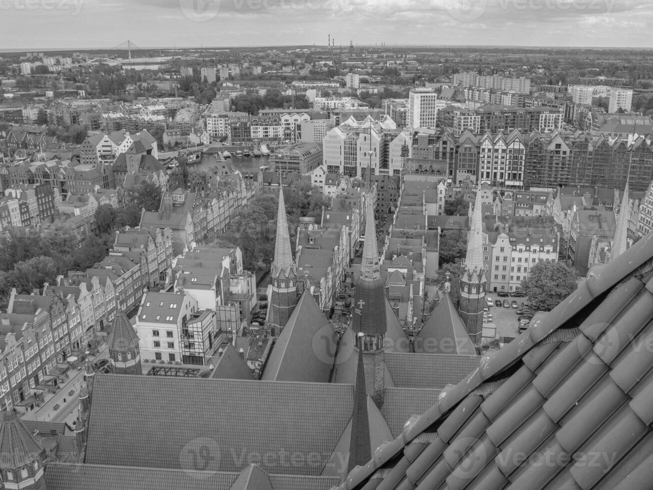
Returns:
[[[341,488],[650,488],[652,319],[649,234],[486,354]]]

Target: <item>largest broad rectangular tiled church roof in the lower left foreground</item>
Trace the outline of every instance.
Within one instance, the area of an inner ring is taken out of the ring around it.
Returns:
[[[240,471],[249,464],[248,454],[277,454],[283,448],[325,457],[287,466],[278,458],[263,461],[268,474],[316,476],[349,422],[353,403],[351,385],[119,374],[95,378],[89,464],[187,468],[192,451],[208,445],[219,448],[221,457],[207,469]]]

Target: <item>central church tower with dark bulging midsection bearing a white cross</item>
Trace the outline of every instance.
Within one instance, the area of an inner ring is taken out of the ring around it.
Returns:
[[[357,350],[362,353],[365,386],[368,395],[381,408],[385,395],[385,283],[376,246],[374,203],[368,204],[365,218],[360,277],[356,283],[351,329],[356,336]]]

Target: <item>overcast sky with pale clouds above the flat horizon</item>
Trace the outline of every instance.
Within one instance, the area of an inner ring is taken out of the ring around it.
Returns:
[[[0,0],[2,48],[471,44],[653,48],[652,0]]]

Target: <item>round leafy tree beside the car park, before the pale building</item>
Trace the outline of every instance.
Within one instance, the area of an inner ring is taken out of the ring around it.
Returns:
[[[578,272],[563,262],[539,261],[522,280],[522,291],[543,311],[550,311],[578,287]]]

